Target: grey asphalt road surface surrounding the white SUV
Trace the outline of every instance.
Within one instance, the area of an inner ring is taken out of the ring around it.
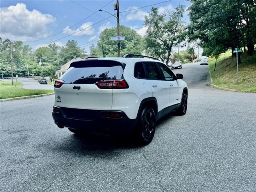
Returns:
[[[256,191],[256,94],[205,86],[207,69],[174,70],[187,114],[160,120],[145,147],[57,128],[53,96],[1,102],[0,191]]]

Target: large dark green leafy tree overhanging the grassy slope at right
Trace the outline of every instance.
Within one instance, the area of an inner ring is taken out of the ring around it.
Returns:
[[[255,0],[190,0],[190,40],[200,39],[204,53],[218,55],[247,46],[252,55],[255,43]]]

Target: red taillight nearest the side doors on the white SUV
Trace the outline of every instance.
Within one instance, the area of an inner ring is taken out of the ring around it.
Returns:
[[[106,80],[96,82],[96,85],[100,89],[127,89],[129,88],[128,84],[124,79],[120,80]]]

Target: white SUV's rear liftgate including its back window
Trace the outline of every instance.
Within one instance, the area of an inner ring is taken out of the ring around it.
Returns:
[[[110,60],[74,62],[61,77],[65,83],[54,88],[55,105],[67,108],[110,110],[112,89],[100,89],[95,84],[104,80],[122,79],[123,65]]]

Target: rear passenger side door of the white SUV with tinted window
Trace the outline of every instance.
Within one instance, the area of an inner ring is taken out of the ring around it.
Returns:
[[[152,89],[152,95],[157,100],[159,112],[169,106],[169,84],[163,79],[156,62],[144,62],[144,68],[148,83]]]

